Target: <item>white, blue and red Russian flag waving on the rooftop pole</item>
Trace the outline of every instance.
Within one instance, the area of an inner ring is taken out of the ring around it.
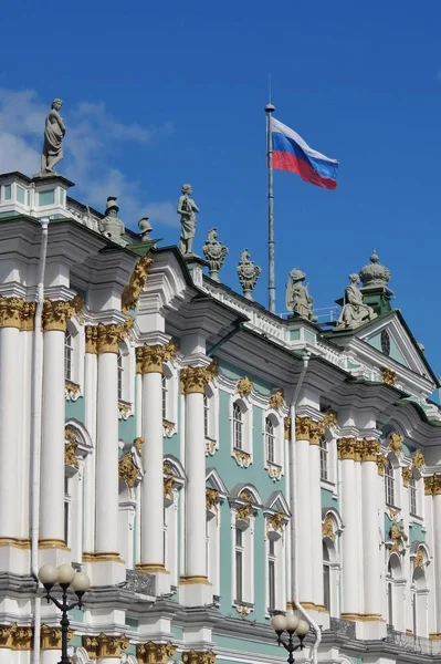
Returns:
[[[273,168],[297,173],[305,183],[335,189],[337,159],[329,159],[309,147],[294,129],[271,117]]]

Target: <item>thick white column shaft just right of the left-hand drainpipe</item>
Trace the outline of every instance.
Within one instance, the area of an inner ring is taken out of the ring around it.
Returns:
[[[51,302],[55,310],[59,302]],[[57,326],[56,326],[57,325]],[[43,341],[40,547],[64,542],[64,321],[46,321]]]

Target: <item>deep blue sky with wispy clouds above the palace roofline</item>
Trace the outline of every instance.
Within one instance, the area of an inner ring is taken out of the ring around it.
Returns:
[[[216,226],[230,247],[222,279],[239,288],[240,250],[263,268],[265,117],[340,162],[338,189],[275,173],[277,310],[288,270],[332,307],[375,247],[418,341],[441,373],[441,3],[96,0],[2,11],[0,170],[39,169],[42,117],[63,98],[59,170],[72,196],[103,209],[119,196],[128,226],[148,212],[175,243],[180,186],[201,209],[196,249]]]

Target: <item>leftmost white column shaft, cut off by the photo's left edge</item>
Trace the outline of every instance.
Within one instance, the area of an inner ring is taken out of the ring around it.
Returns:
[[[2,324],[6,322],[1,320]],[[21,353],[20,319],[17,325],[0,328],[0,541],[4,543],[20,537],[22,499],[17,496],[17,473],[20,463],[18,449],[21,448],[18,423],[22,417],[20,402],[23,398],[18,371]]]

